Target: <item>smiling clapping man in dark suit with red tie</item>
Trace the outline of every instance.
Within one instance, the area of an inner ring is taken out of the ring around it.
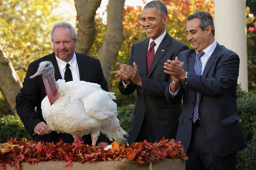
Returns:
[[[137,91],[128,143],[175,138],[181,102],[169,105],[164,98],[170,76],[163,72],[163,65],[188,49],[167,33],[169,16],[162,2],[146,4],[141,20],[148,38],[133,44],[129,65],[117,63],[120,70],[113,72],[120,79],[118,88],[122,94]]]

